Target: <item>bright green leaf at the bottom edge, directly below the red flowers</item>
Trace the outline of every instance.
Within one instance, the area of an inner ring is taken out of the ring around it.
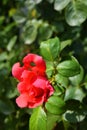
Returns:
[[[29,130],[47,130],[46,129],[46,113],[42,107],[34,110],[30,118]]]

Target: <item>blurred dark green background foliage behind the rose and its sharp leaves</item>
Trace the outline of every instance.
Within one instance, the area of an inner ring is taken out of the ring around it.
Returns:
[[[16,105],[17,80],[11,69],[27,53],[40,54],[41,41],[58,36],[70,42],[63,54],[73,54],[83,66],[87,92],[86,18],[87,0],[0,1],[0,130],[28,130],[32,110]],[[87,96],[84,102],[87,104]],[[81,130],[87,130],[86,121],[87,117]]]

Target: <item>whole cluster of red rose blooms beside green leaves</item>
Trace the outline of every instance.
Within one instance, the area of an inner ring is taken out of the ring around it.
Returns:
[[[16,98],[19,107],[35,108],[47,101],[54,92],[46,76],[46,64],[36,54],[27,54],[20,63],[12,67],[12,75],[19,80],[17,89],[20,96]]]

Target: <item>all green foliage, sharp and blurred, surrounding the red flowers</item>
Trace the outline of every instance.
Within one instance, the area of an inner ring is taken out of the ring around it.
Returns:
[[[3,0],[0,3],[0,129],[87,130],[87,0]],[[11,69],[27,53],[46,61],[55,93],[20,109]]]

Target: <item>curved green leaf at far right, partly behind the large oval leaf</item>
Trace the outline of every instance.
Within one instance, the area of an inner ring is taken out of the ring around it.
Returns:
[[[84,77],[84,70],[82,66],[80,66],[80,73],[73,77],[69,77],[69,80],[71,81],[72,85],[77,86],[82,82],[83,77]]]

